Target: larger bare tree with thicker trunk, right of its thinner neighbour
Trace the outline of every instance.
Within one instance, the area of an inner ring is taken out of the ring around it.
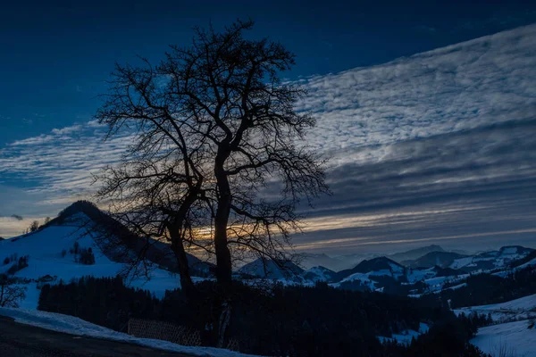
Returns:
[[[231,252],[281,257],[298,228],[300,197],[328,191],[319,157],[297,144],[315,123],[295,111],[305,92],[279,77],[294,55],[267,38],[244,38],[252,26],[237,21],[222,33],[197,29],[193,46],[172,47],[161,65],[190,135],[203,139],[209,154],[207,182],[215,184],[204,198],[214,214],[217,278],[225,286]],[[268,185],[281,188],[276,200],[263,195]]]

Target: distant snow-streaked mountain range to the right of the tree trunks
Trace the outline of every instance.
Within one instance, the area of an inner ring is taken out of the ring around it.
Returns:
[[[318,255],[309,256],[309,259]],[[320,259],[330,262],[335,258],[322,254]],[[257,260],[248,264],[247,269],[239,270],[239,273],[245,279],[268,278],[285,284],[314,284],[323,281],[350,290],[419,296],[463,286],[469,273],[506,273],[517,269],[515,267],[531,264],[536,267],[536,251],[518,245],[473,255],[447,252],[440,245],[428,245],[404,253],[364,259],[353,268],[339,271],[323,266],[299,270],[295,264],[291,265],[292,269],[285,270],[281,263],[264,262],[268,267],[265,273],[259,268],[263,264]]]

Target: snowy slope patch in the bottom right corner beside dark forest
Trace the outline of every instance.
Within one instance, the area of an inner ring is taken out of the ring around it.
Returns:
[[[498,356],[501,347],[509,356],[536,356],[536,328],[529,324],[523,320],[479,328],[471,343],[492,356]]]

